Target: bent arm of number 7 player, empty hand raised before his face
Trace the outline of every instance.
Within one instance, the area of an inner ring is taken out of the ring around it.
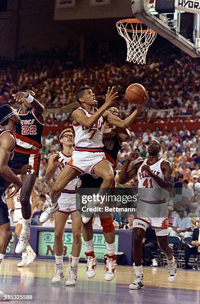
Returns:
[[[114,86],[110,89],[108,87],[107,94],[105,97],[105,103],[99,108],[97,112],[95,112],[91,117],[87,117],[83,111],[80,111],[79,109],[75,110],[72,113],[72,117],[74,120],[74,123],[78,123],[80,125],[84,125],[86,127],[91,128],[101,117],[101,115],[111,107],[114,100],[118,97],[118,92],[114,92]],[[108,112],[109,113],[109,112]],[[114,116],[114,115],[113,115]]]

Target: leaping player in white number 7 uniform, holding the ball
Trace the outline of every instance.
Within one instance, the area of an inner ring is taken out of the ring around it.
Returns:
[[[105,103],[98,110],[95,107],[97,105],[95,94],[90,87],[82,87],[77,90],[76,100],[81,106],[72,114],[76,148],[72,154],[71,161],[63,168],[51,189],[51,204],[41,215],[40,222],[44,223],[48,221],[50,216],[59,209],[57,201],[62,189],[80,174],[89,173],[93,177],[101,177],[103,179],[99,191],[100,195],[104,194],[104,188],[111,187],[114,180],[114,172],[111,163],[106,159],[103,152],[102,137],[104,122],[107,122],[108,125],[126,129],[133,123],[143,106],[147,103],[146,96],[144,102],[138,105],[134,113],[125,120],[121,120],[107,111],[117,97],[114,87],[111,89],[108,87]],[[87,224],[90,218],[82,217],[83,223]],[[90,269],[87,269],[87,276],[88,278],[92,278],[94,277],[96,258],[92,255],[88,256],[87,259],[90,260],[89,264],[91,265]],[[89,275],[89,271],[93,273],[91,276]]]

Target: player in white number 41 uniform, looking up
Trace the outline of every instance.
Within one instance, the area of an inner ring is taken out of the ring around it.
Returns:
[[[173,250],[168,244],[168,208],[166,203],[166,196],[168,191],[173,189],[174,179],[170,162],[158,156],[160,150],[161,145],[158,141],[150,141],[149,157],[138,161],[139,154],[137,152],[130,153],[119,173],[120,184],[125,184],[136,175],[139,181],[139,202],[133,222],[135,280],[130,284],[129,289],[141,289],[144,286],[142,241],[149,225],[155,229],[158,244],[167,258],[169,281],[173,282],[177,276]],[[133,166],[128,170],[132,160]]]

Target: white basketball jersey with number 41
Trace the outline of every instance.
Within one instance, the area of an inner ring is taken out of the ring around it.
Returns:
[[[148,158],[143,161],[140,168],[138,169],[138,196],[139,199],[145,201],[160,201],[168,196],[168,192],[162,189],[156,181],[149,176],[146,171],[142,172],[142,166],[147,164],[150,166],[151,171],[164,180],[164,174],[161,168],[162,162],[166,160],[164,158],[159,158],[157,162],[149,165]],[[157,190],[155,190],[157,188]]]

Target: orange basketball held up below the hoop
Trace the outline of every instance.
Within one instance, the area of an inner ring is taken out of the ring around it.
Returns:
[[[126,99],[134,104],[142,103],[146,94],[145,87],[140,83],[133,83],[126,89]]]

